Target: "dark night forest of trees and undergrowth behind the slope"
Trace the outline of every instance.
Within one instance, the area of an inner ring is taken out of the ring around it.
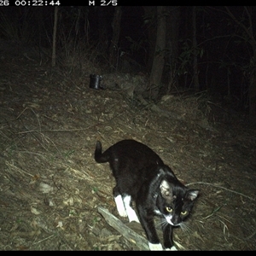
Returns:
[[[144,97],[157,101],[165,94],[204,91],[254,122],[255,10],[248,6],[60,6],[56,65],[61,66],[61,56],[71,51],[80,56],[87,51],[94,64],[108,72],[145,74],[149,92]],[[0,37],[37,47],[43,55],[44,49],[52,49],[54,14],[54,7],[0,9]],[[165,26],[158,27],[160,22]],[[157,57],[162,64],[154,65]]]

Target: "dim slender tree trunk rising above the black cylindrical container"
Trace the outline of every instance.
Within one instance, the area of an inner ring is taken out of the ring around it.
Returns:
[[[120,26],[121,26],[121,16],[122,10],[120,6],[115,7],[113,14],[113,36],[110,44],[110,52],[109,52],[109,62],[111,68],[117,70],[118,61],[119,61],[119,34],[120,34]]]

